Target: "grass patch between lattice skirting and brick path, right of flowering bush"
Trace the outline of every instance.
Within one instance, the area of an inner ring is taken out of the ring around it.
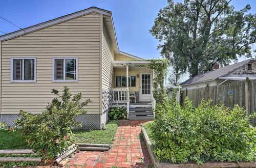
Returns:
[[[112,144],[118,121],[110,121],[105,130],[73,130],[76,143]]]

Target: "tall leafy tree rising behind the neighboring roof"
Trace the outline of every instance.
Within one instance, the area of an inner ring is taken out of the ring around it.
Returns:
[[[184,0],[160,9],[150,30],[159,41],[161,55],[170,60],[178,79],[212,69],[215,63],[228,65],[245,55],[251,57],[256,42],[256,15],[250,5],[234,10],[231,0]],[[177,81],[176,79],[176,81]]]

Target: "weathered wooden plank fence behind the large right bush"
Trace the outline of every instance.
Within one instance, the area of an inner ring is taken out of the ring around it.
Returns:
[[[247,115],[256,111],[256,80],[245,80],[222,84],[219,86],[207,86],[197,89],[186,89],[182,93],[182,104],[184,105],[185,97],[193,100],[195,106],[201,102],[201,99],[211,99],[212,105],[224,104],[232,108],[238,104],[246,109]],[[251,123],[256,125],[254,118]]]

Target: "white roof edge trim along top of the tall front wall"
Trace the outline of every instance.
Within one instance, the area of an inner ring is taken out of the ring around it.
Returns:
[[[92,8],[88,8],[88,9],[78,11],[78,12],[75,12],[75,13],[72,13],[72,14],[61,16],[61,17],[53,19],[53,20],[42,22],[42,23],[27,27],[25,29],[22,29],[22,30],[13,32],[13,33],[9,33],[9,34],[0,36],[0,41],[8,40],[8,39],[11,39],[11,38],[14,38],[14,37],[17,37],[17,36],[22,36],[22,35],[28,34],[30,32],[34,32],[36,30],[43,29],[45,27],[48,27],[48,26],[51,26],[51,25],[54,25],[54,24],[57,24],[57,23],[60,23],[60,22],[63,22],[63,21],[67,21],[67,20],[82,16],[82,15],[85,15],[85,14],[88,14],[88,13],[91,13],[91,12],[97,12],[97,13],[100,13],[100,14],[103,14],[103,15],[106,15],[106,16],[110,16],[112,18],[111,12],[103,10],[103,9],[99,9],[99,8],[96,8],[96,7],[92,7]]]

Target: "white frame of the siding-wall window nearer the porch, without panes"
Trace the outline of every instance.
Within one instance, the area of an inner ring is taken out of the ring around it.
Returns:
[[[56,59],[63,59],[64,65],[63,65],[63,77],[64,79],[54,79],[55,75],[55,60]],[[76,79],[75,80],[66,80],[66,59],[75,59],[76,60]],[[52,58],[52,81],[53,82],[76,82],[78,81],[78,57],[53,57]]]

